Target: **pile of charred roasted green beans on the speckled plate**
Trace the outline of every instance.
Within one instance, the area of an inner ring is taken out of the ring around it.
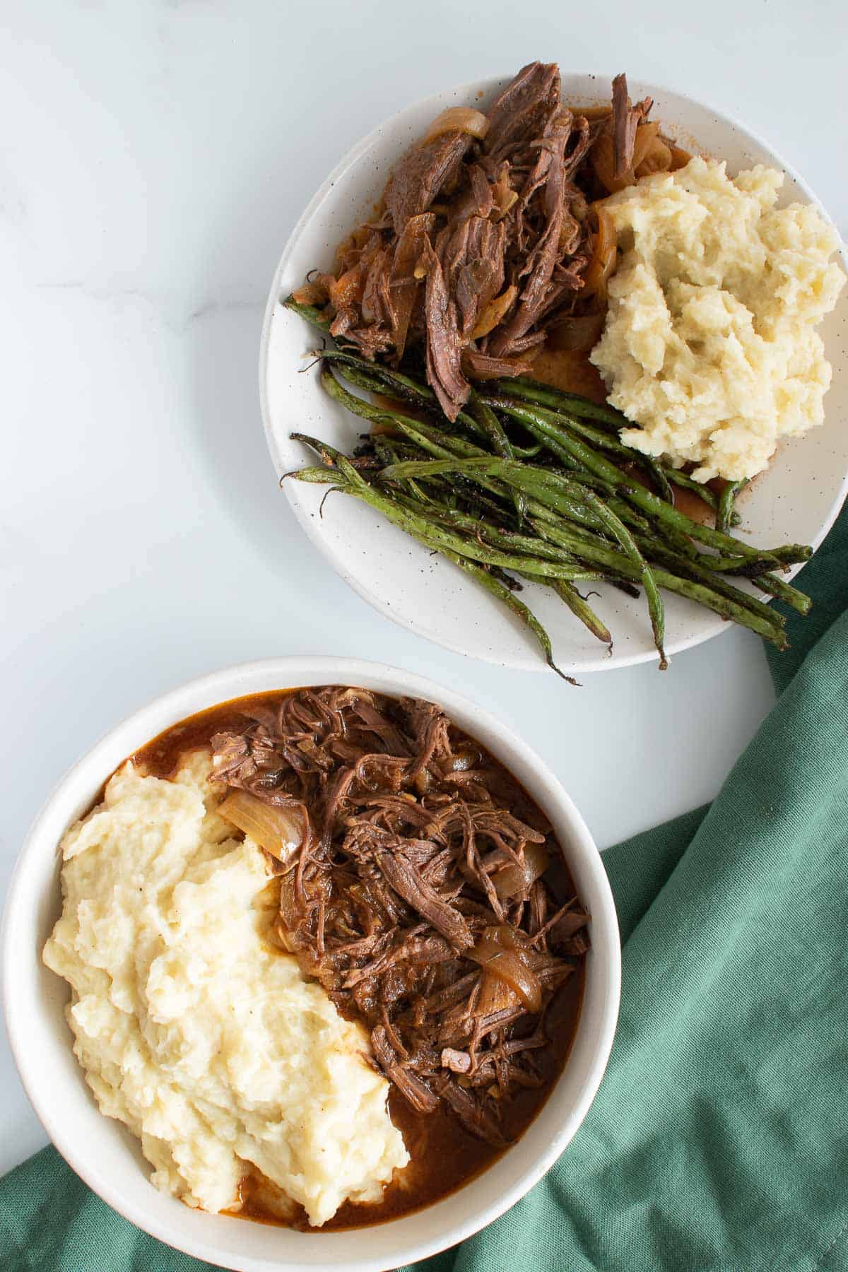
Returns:
[[[327,332],[329,318],[318,307],[292,296],[282,303]],[[553,588],[610,649],[606,626],[573,584],[603,580],[636,595],[634,584],[641,584],[661,668],[667,661],[660,588],[735,619],[778,647],[786,647],[783,617],[730,577],[753,579],[800,613],[809,611],[809,598],[772,571],[807,560],[811,550],[804,544],[760,550],[735,539],[727,532],[739,522],[734,499],[740,485],[730,483],[717,499],[687,473],[627,446],[618,432],[629,421],[614,408],[533,380],[509,380],[495,385],[496,394],[489,385],[473,391],[454,425],[422,379],[353,351],[329,349],[318,356],[325,391],[388,431],[373,434],[373,450],[355,462],[318,439],[292,434],[317,450],[322,464],[287,476],[352,495],[441,552],[511,608],[534,632],[552,667],[544,628],[512,595],[511,589],[520,586],[514,575]],[[406,415],[402,406],[356,397],[333,369],[369,396],[413,403],[432,416],[431,422]],[[517,445],[503,416],[525,429],[533,445]],[[543,452],[561,467],[525,462]],[[623,462],[645,469],[657,494],[619,467]],[[671,485],[693,490],[716,513],[716,528],[675,509]],[[698,551],[698,543],[713,551]]]

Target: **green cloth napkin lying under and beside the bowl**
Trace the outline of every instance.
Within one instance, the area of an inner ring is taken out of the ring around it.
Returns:
[[[848,1268],[847,575],[848,510],[804,571],[812,616],[769,655],[777,706],[716,801],[604,857],[622,1015],[586,1121],[524,1201],[418,1272]],[[0,1180],[5,1272],[206,1266],[53,1149]]]

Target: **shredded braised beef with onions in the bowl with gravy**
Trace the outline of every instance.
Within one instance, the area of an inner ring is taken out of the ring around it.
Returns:
[[[417,1113],[450,1109],[502,1146],[503,1102],[539,1085],[549,1009],[589,945],[544,815],[414,698],[297,689],[212,749],[219,782],[300,810],[303,842],[278,865],[285,948],[365,1025]]]

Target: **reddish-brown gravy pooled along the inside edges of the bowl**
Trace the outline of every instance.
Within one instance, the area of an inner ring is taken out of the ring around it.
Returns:
[[[277,691],[257,693],[243,698],[233,698],[220,706],[201,711],[187,720],[173,725],[159,736],[141,747],[131,757],[139,767],[155,777],[173,777],[183,757],[201,747],[207,747],[211,736],[226,729],[238,729],[244,722],[244,715],[257,706],[273,706],[286,693]],[[498,763],[492,761],[492,763]],[[502,764],[498,767],[503,768]],[[519,786],[512,775],[510,781]],[[530,796],[521,791],[529,803]],[[571,887],[571,879],[563,879]],[[562,887],[562,884],[561,884]],[[510,1100],[503,1114],[503,1130],[510,1141],[517,1140],[530,1122],[543,1108],[553,1084],[559,1076],[577,1029],[584,995],[585,964],[557,991],[547,1016],[551,1044],[535,1052],[543,1077],[543,1085],[535,1089],[517,1091]],[[242,1208],[229,1211],[239,1219],[252,1219],[266,1224],[297,1227],[303,1231],[339,1231],[348,1227],[361,1227],[367,1224],[380,1224],[399,1219],[412,1211],[430,1206],[449,1193],[469,1183],[502,1155],[503,1149],[493,1149],[478,1140],[456,1121],[444,1107],[435,1113],[417,1113],[393,1086],[389,1093],[392,1121],[403,1135],[409,1165],[395,1175],[384,1189],[383,1198],[375,1203],[346,1202],[320,1229],[310,1227],[303,1207],[284,1199],[272,1198],[276,1191],[261,1175],[248,1177],[240,1188]],[[285,1215],[285,1217],[282,1217]]]

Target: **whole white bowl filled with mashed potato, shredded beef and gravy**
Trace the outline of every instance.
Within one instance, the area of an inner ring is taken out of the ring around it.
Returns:
[[[600,855],[530,747],[333,658],[103,738],[28,836],[3,955],[62,1156],[249,1272],[395,1267],[501,1215],[586,1114],[620,981]]]

